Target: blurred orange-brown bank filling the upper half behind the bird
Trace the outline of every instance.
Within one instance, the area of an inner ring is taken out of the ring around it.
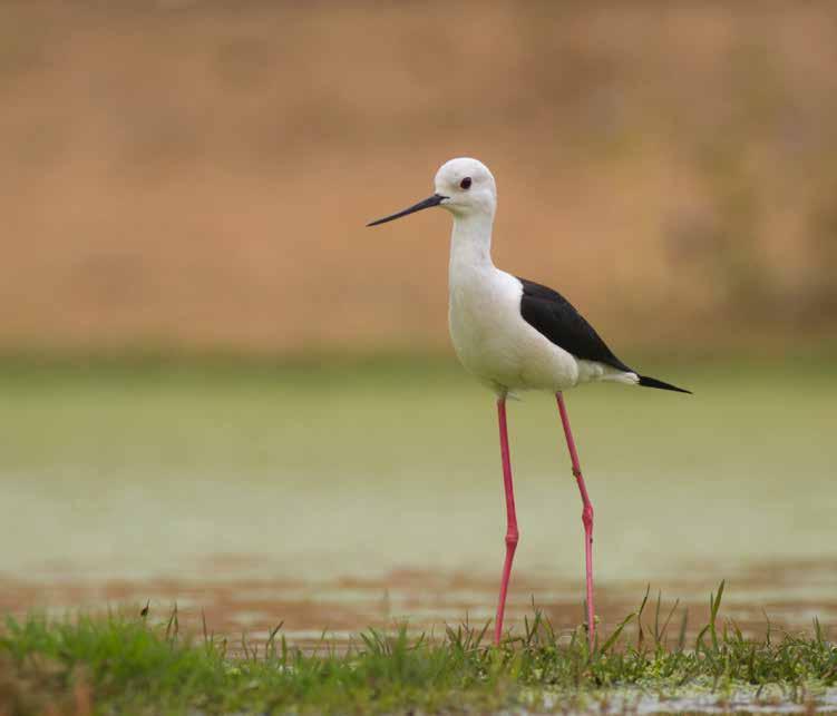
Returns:
[[[0,345],[442,350],[451,156],[495,259],[668,354],[837,327],[833,2],[0,6]]]

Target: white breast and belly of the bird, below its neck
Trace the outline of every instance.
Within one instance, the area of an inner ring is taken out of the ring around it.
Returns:
[[[450,274],[450,337],[463,365],[496,391],[559,391],[578,382],[578,362],[520,315],[523,286],[494,266]]]

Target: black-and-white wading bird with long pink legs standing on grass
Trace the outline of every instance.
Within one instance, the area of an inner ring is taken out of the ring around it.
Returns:
[[[611,351],[593,326],[557,291],[497,268],[492,259],[492,232],[497,184],[488,167],[470,157],[441,165],[434,194],[412,206],[370,222],[378,226],[439,207],[452,215],[448,266],[448,327],[454,350],[476,379],[496,396],[503,485],[506,501],[505,559],[500,576],[494,643],[503,638],[503,620],[519,541],[508,447],[506,400],[523,391],[555,395],[582,500],[586,587],[586,631],[595,646],[593,602],[593,503],[582,474],[564,392],[584,383],[613,382],[677,393],[691,391],[642,375]]]

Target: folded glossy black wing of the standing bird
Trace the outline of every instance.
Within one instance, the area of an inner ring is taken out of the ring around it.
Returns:
[[[613,354],[593,326],[557,291],[519,276],[517,279],[523,284],[520,315],[533,328],[577,359],[597,361],[620,371],[633,372]]]

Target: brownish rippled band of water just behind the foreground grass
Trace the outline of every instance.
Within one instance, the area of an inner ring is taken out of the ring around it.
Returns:
[[[176,576],[149,580],[108,579],[78,581],[71,576],[32,582],[4,579],[0,583],[0,611],[23,616],[46,611],[53,616],[82,610],[119,609],[139,614],[149,607],[149,617],[165,621],[177,608],[181,627],[187,631],[207,628],[226,636],[233,649],[263,643],[282,625],[289,643],[303,648],[323,639],[345,645],[367,627],[392,628],[407,624],[413,634],[444,634],[446,626],[467,622],[481,627],[494,616],[497,582],[463,572],[393,571],[380,578],[343,577],[332,580],[267,579],[252,576],[253,565],[242,569],[236,560],[215,560],[207,573],[223,573],[211,580]],[[236,578],[236,573],[241,575]],[[653,624],[658,594],[661,621],[671,617],[669,637],[677,639],[684,612],[687,634],[707,622],[709,594],[718,583],[711,575],[697,570],[677,580],[651,585],[644,624]],[[597,590],[600,628],[613,629],[635,611],[646,585],[604,582]],[[515,575],[507,607],[507,626],[522,629],[523,619],[542,610],[561,631],[571,631],[582,621],[583,585],[562,582],[546,576]],[[830,562],[805,565],[768,563],[742,570],[726,586],[721,616],[736,621],[748,636],[810,630],[814,618],[824,625],[837,624],[837,569]],[[625,631],[635,631],[633,626]]]

